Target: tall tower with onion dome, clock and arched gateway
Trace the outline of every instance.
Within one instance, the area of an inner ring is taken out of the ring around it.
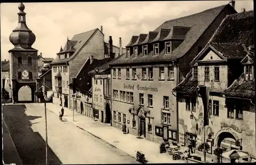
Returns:
[[[10,78],[12,80],[13,103],[18,103],[18,90],[23,86],[31,88],[31,99],[35,101],[36,78],[38,75],[37,50],[31,46],[35,42],[34,33],[27,27],[25,6],[18,6],[18,26],[9,39],[14,45],[10,53]]]

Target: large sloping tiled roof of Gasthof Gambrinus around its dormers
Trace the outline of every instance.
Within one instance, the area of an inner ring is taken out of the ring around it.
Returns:
[[[126,56],[122,56],[119,60],[111,63],[111,65],[124,63],[172,61],[184,56],[225,7],[230,8],[230,10],[233,10],[233,12],[236,12],[228,4],[211,8],[193,15],[168,20],[160,25],[155,30],[155,32],[159,32],[161,29],[172,29],[173,27],[191,27],[190,30],[187,31],[183,42],[172,53],[165,54],[163,50],[162,52],[160,52],[159,55],[154,56],[153,53],[147,56],[131,56],[131,58],[126,58]]]

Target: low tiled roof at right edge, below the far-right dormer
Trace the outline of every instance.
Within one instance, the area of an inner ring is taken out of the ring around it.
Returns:
[[[255,79],[246,81],[244,80],[244,77],[245,75],[243,73],[239,79],[234,80],[234,82],[223,91],[222,95],[225,95],[225,97],[254,99]]]

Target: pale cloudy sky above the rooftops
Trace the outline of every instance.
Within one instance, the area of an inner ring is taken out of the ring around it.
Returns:
[[[132,35],[155,30],[166,20],[228,4],[229,1],[24,3],[27,26],[36,35],[32,45],[44,57],[56,57],[67,37],[103,26],[105,41],[124,47]],[[1,55],[9,59],[9,36],[18,25],[19,3],[1,3]],[[253,1],[236,1],[236,10],[253,10]]]

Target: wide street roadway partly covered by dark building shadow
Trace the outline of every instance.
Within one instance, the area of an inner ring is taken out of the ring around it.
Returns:
[[[64,114],[65,116],[65,114]],[[45,164],[45,111],[36,104],[3,106],[3,118],[23,164]],[[47,111],[48,163],[138,163],[123,151]],[[5,139],[4,139],[5,142]]]

